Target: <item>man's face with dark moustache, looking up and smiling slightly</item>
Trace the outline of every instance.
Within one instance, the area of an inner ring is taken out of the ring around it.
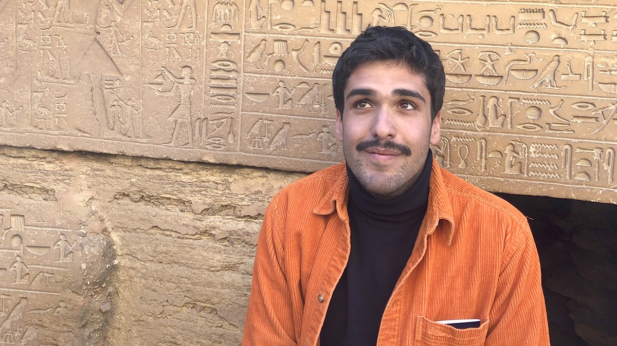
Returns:
[[[336,138],[347,166],[371,194],[399,196],[418,180],[429,143],[439,142],[441,114],[420,74],[396,62],[360,65],[347,80]]]

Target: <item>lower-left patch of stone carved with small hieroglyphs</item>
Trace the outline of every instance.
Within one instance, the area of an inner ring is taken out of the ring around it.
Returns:
[[[39,345],[41,336],[50,339],[39,321],[61,319],[67,311],[67,278],[80,273],[77,236],[1,208],[0,231],[0,344]]]

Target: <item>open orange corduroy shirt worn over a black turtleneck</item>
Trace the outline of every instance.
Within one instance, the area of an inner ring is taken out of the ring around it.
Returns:
[[[426,215],[386,305],[378,346],[549,345],[526,218],[433,161]],[[263,218],[242,345],[319,345],[349,259],[348,180],[338,164],[283,188]],[[479,318],[479,328],[440,320]],[[353,326],[349,326],[353,328]]]

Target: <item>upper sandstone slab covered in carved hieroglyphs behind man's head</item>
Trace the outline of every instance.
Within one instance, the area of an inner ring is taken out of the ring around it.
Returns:
[[[480,185],[612,186],[608,0],[0,1],[0,143],[314,171],[342,160],[329,78],[366,25],[404,26],[441,55],[444,166]],[[595,150],[590,179],[534,163],[536,142],[571,145],[572,169]]]

